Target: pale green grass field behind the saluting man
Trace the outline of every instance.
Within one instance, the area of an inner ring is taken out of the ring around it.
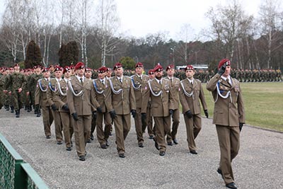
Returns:
[[[246,124],[265,127],[283,132],[283,82],[241,83]],[[203,89],[209,110],[213,118],[214,101],[212,93]]]

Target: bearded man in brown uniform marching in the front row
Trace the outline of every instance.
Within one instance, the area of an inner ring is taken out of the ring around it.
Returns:
[[[174,105],[170,81],[162,78],[163,68],[161,65],[158,64],[154,68],[154,74],[156,78],[149,80],[148,86],[144,88],[141,113],[146,113],[149,98],[151,98],[151,115],[156,124],[155,147],[159,150],[159,155],[164,156],[166,152],[165,135],[170,132],[171,126],[169,113],[173,113]]]

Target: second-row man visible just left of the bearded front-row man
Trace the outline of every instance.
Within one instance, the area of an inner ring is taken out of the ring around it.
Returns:
[[[141,62],[136,64],[136,74],[134,74],[132,79],[132,86],[134,88],[134,96],[136,98],[136,108],[137,108],[137,115],[134,118],[134,126],[137,132],[137,142],[139,147],[144,147],[144,137],[143,131],[146,129],[146,122],[141,122],[141,100],[142,100],[142,93],[144,92],[143,89],[145,88],[147,81],[149,81],[149,76],[142,74],[144,71],[144,65]]]

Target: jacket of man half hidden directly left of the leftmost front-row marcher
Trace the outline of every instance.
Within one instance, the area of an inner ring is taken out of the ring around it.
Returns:
[[[54,102],[58,105],[57,107],[59,108],[59,112],[67,113],[69,111],[63,110],[62,106],[67,103],[68,84],[64,79],[62,79],[59,81],[56,88],[57,90],[54,94]]]

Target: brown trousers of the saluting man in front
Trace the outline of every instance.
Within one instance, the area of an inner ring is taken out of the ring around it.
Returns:
[[[240,149],[240,130],[239,127],[216,125],[216,131],[220,147],[219,168],[222,171],[225,183],[232,183],[234,176],[231,162]]]

